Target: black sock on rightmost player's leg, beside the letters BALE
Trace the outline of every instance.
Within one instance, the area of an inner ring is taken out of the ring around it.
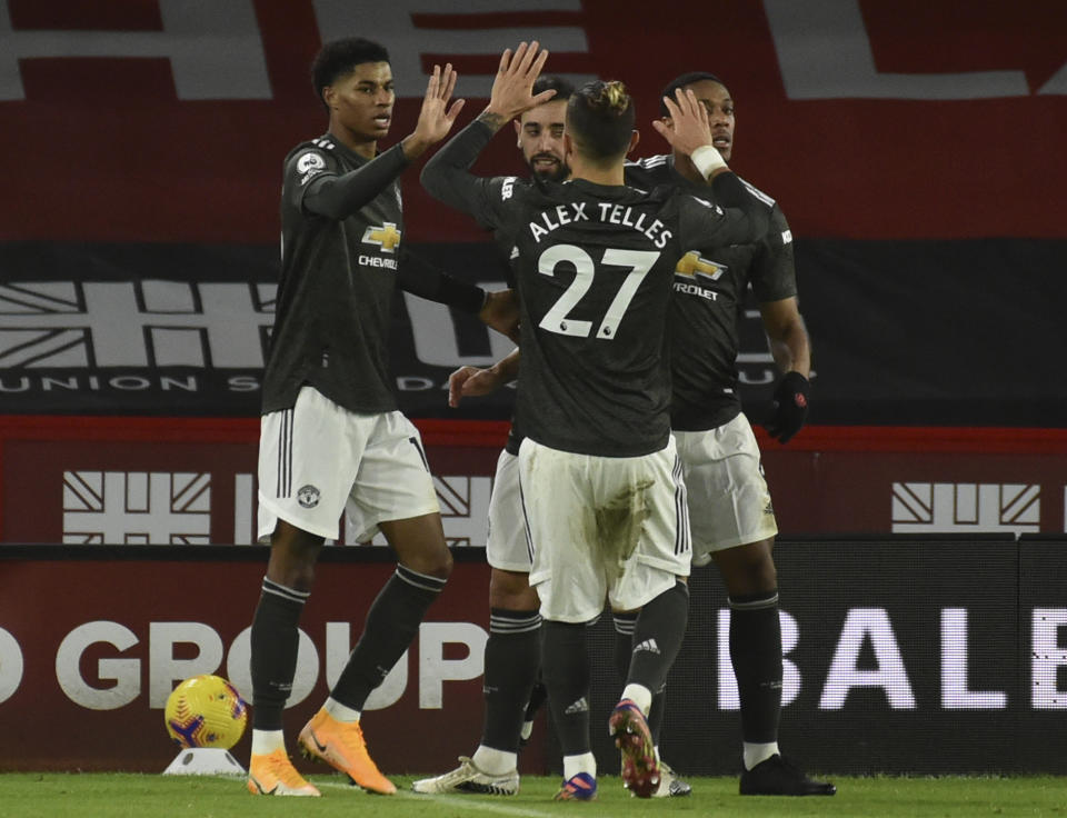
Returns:
[[[730,661],[741,701],[741,737],[778,740],[781,716],[781,625],[778,591],[731,597]]]

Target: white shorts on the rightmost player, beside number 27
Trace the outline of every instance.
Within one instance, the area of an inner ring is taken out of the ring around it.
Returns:
[[[695,566],[706,566],[715,551],[778,533],[748,418],[738,415],[715,429],[674,436],[689,492]]]

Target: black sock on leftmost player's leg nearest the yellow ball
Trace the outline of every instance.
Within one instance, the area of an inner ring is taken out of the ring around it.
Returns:
[[[296,591],[263,577],[252,618],[252,728],[280,730],[297,672],[297,625],[310,591]]]

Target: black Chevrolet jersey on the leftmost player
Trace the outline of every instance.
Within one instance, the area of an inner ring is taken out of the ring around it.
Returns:
[[[369,161],[330,136],[303,142],[286,157],[281,279],[263,413],[292,407],[305,385],[350,411],[397,408],[389,385],[388,325],[403,232],[396,177],[407,161],[400,147],[373,160],[382,172],[368,174],[369,187],[357,191],[360,198],[339,202],[338,218],[309,211],[305,203],[309,191],[321,192],[321,186]]]

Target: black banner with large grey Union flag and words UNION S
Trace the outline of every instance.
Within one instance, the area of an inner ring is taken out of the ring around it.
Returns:
[[[416,251],[502,288],[488,243]],[[815,350],[810,422],[1067,423],[1058,305],[1067,241],[799,240]],[[256,416],[277,249],[260,245],[0,245],[0,411]],[[449,373],[512,349],[473,317],[403,295],[391,353],[410,417],[507,419],[512,392],[446,405]],[[777,370],[755,305],[740,318],[755,420]]]

